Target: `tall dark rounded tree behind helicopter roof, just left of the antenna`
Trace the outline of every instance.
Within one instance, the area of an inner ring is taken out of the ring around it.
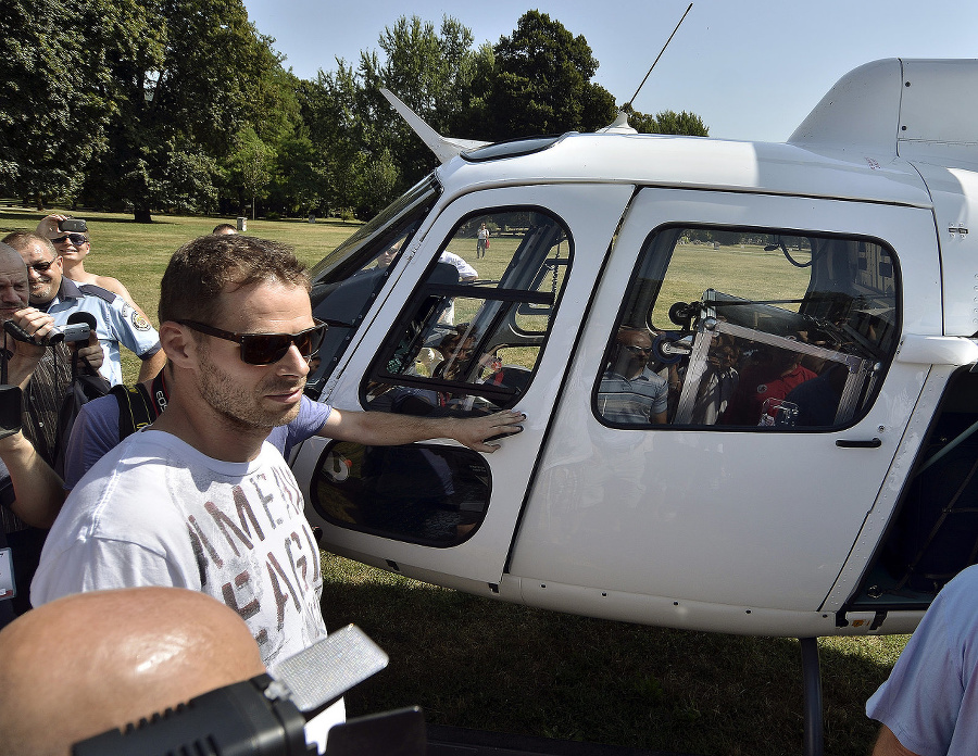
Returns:
[[[525,13],[493,53],[490,138],[592,131],[614,118],[614,98],[591,84],[598,61],[587,40],[548,14]]]

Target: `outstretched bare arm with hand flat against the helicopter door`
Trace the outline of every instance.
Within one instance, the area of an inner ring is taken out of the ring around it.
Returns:
[[[454,439],[476,452],[491,454],[498,443],[486,439],[504,433],[511,436],[523,430],[519,424],[526,419],[522,412],[504,410],[485,417],[414,417],[390,415],[386,412],[329,413],[319,436],[339,441],[355,441],[367,446],[397,446],[427,439]]]

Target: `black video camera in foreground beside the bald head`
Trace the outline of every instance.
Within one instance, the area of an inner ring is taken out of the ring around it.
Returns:
[[[204,693],[175,709],[76,743],[74,756],[313,756],[325,738],[317,715],[387,666],[353,625],[275,665],[267,675]],[[327,713],[328,714],[328,713]],[[421,709],[351,719],[328,729],[326,756],[424,756]]]

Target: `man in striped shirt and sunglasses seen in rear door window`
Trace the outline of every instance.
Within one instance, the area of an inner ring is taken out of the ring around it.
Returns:
[[[609,423],[657,425],[666,421],[669,387],[665,378],[645,369],[651,355],[649,331],[644,328],[618,330],[611,364],[598,387],[598,412]]]

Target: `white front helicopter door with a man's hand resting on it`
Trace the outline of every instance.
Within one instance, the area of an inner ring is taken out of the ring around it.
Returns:
[[[326,401],[405,423],[503,408],[527,420],[492,454],[444,439],[404,446],[306,441],[293,469],[309,481],[306,514],[323,528],[324,547],[494,590],[584,308],[632,191],[475,192],[412,241]]]

